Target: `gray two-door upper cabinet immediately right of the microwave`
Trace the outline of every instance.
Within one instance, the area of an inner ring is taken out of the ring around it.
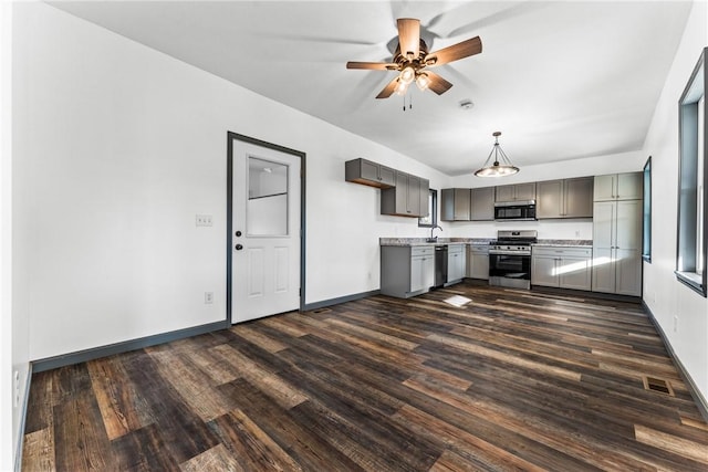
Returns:
[[[537,218],[592,218],[593,178],[537,183]]]

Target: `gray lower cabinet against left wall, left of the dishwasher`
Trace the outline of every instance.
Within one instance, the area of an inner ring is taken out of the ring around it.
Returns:
[[[435,283],[434,245],[382,245],[381,293],[408,298]]]

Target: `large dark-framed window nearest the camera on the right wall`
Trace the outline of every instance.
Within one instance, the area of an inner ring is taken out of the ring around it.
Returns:
[[[678,174],[678,233],[676,247],[677,279],[707,296],[706,253],[708,238],[708,182],[706,164],[706,55],[704,49],[698,64],[681,94],[679,105],[679,174]]]

